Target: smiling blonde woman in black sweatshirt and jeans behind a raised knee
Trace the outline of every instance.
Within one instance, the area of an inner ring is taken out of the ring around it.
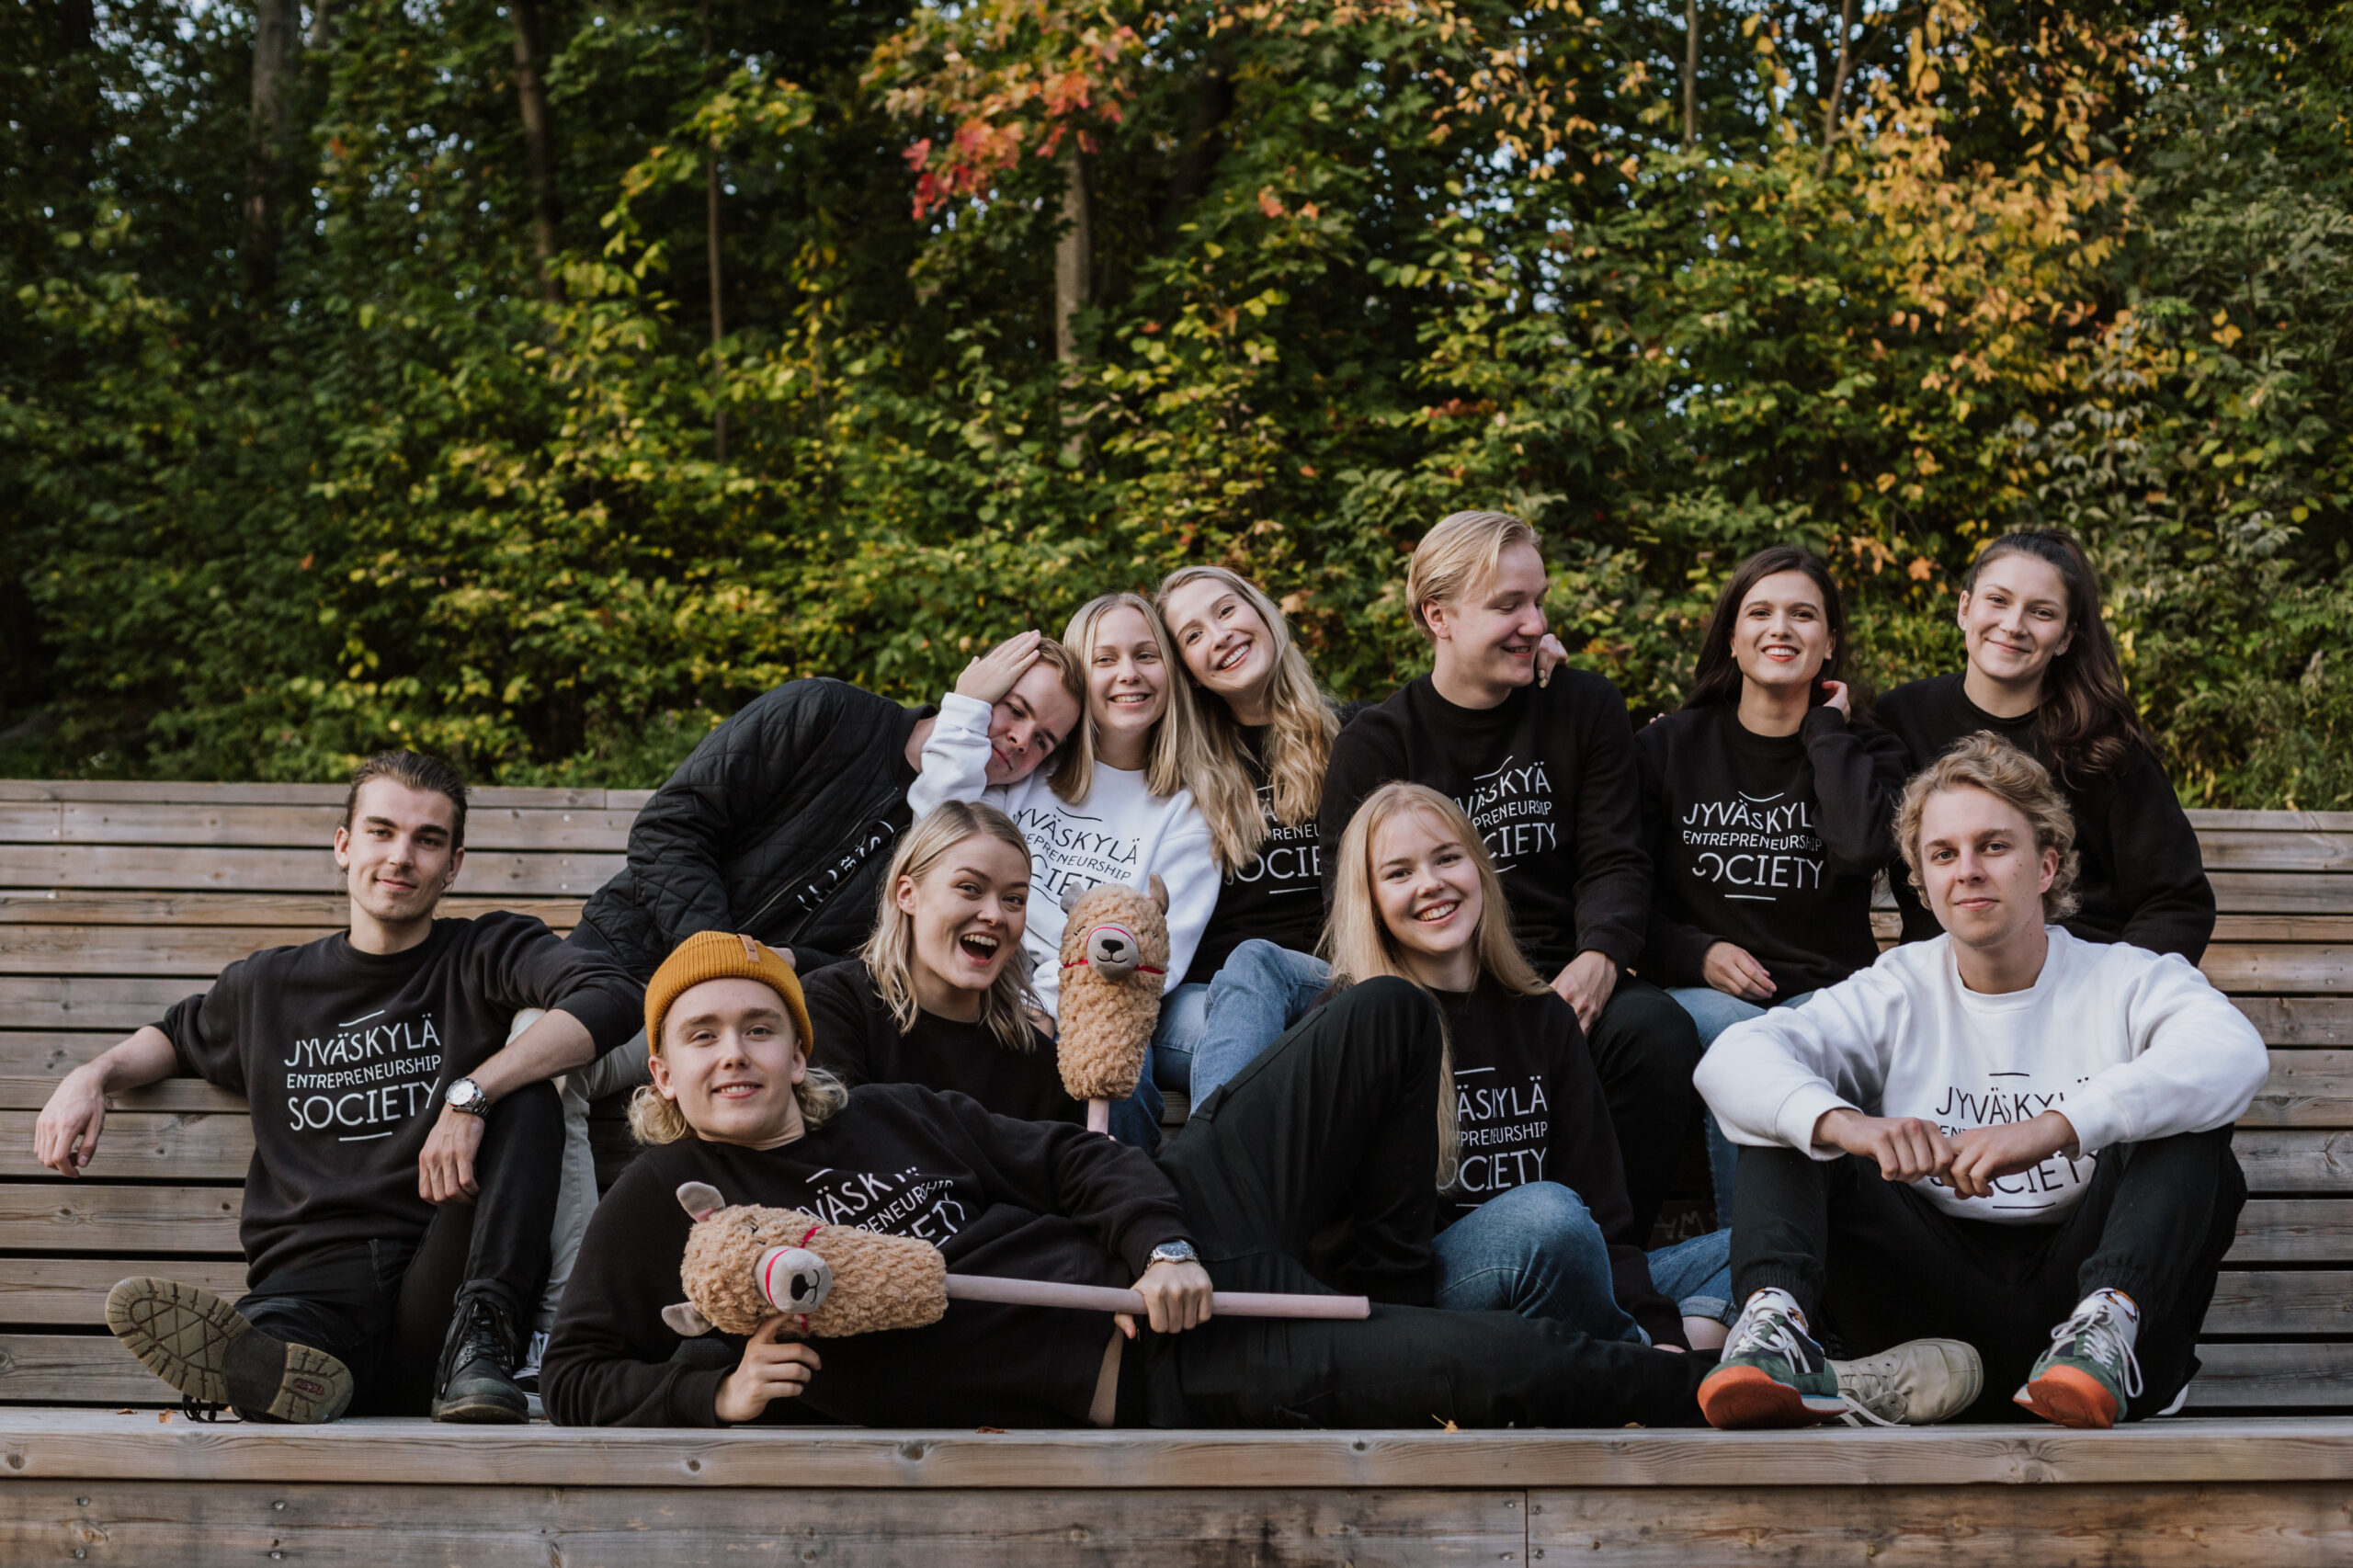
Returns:
[[[1729,1234],[1640,1245],[1577,1012],[1520,956],[1494,862],[1454,800],[1384,784],[1334,850],[1332,984],[1438,1001],[1438,1304],[1565,1318],[1600,1340],[1722,1344]]]

